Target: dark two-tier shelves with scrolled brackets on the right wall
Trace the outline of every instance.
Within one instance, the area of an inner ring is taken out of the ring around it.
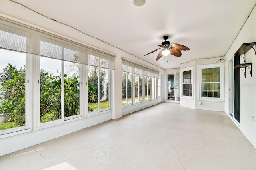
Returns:
[[[243,59],[244,59],[244,63],[239,63],[238,65],[236,65],[234,68],[240,68],[242,71],[244,71],[244,77],[246,77],[246,68],[248,68],[250,70],[250,74],[252,76],[252,63],[246,63],[245,61],[245,54],[252,48],[254,49],[254,45],[256,45],[256,42],[252,42],[252,43],[243,43],[241,45],[241,47],[236,51],[236,53],[234,54],[235,56],[239,56],[239,57],[243,57],[242,55],[244,55]],[[254,49],[254,53],[256,55],[256,51]],[[250,68],[251,66],[251,68]],[[242,68],[245,68],[244,70]]]

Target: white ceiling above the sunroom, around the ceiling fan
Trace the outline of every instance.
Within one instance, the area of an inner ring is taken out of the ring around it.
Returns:
[[[23,6],[1,0],[1,14],[105,51],[122,49],[163,69],[178,68],[193,59],[224,56],[256,4],[256,0],[147,0],[144,6],[134,6],[132,0],[14,1]],[[158,52],[144,57],[158,48],[165,35],[171,43],[185,45],[190,51],[182,51],[180,58],[168,55],[165,62],[164,57],[156,61]]]

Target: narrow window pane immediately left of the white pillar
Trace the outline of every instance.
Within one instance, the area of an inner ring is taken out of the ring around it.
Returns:
[[[100,109],[109,108],[109,69],[100,69]]]

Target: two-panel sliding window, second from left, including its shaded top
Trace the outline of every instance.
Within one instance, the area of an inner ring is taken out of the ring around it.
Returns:
[[[80,52],[40,41],[40,123],[79,116],[81,101]],[[62,61],[60,59],[68,61]]]

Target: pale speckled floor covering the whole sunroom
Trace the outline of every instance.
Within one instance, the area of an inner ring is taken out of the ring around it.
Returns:
[[[0,169],[256,169],[224,112],[160,103],[0,157]]]

